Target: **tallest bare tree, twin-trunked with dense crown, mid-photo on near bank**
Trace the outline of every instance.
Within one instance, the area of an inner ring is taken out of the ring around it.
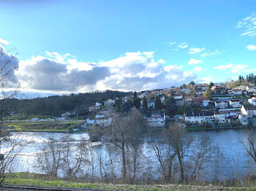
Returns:
[[[143,133],[146,130],[146,120],[138,109],[133,108],[129,114],[118,114],[108,128],[105,140],[116,145],[121,151],[122,179],[127,182],[127,157],[133,156],[133,178],[136,177],[138,167],[138,149],[142,143]],[[131,150],[132,147],[132,150]]]

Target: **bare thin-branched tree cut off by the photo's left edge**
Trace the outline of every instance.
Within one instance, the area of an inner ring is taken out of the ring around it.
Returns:
[[[18,96],[21,84],[15,77],[18,69],[17,52],[7,52],[0,45],[0,186],[4,184],[5,173],[14,161],[15,157],[27,144],[26,141],[18,139],[19,136],[12,136],[7,128],[5,117],[11,112],[12,99]],[[9,54],[12,52],[12,54]],[[14,55],[13,55],[14,52]]]

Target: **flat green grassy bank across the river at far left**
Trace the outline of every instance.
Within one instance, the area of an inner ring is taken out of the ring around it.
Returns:
[[[18,131],[53,131],[64,132],[80,121],[42,121],[42,122],[6,122],[4,125]]]

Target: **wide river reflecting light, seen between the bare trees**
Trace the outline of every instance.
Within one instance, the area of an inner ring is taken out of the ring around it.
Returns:
[[[246,141],[246,137],[251,132],[251,129],[223,129],[223,130],[190,130],[188,131],[189,136],[198,137],[202,133],[207,133],[212,144],[218,145],[222,151],[222,171],[219,176],[222,178],[231,178],[236,174],[241,176],[246,175],[248,172],[254,173],[255,168],[249,165],[249,156],[246,154],[242,141]],[[256,130],[252,130],[253,136],[256,136]],[[11,139],[19,139],[20,141],[31,141],[30,144],[26,145],[19,155],[15,158],[14,163],[12,163],[11,171],[25,171],[31,173],[40,173],[35,166],[35,155],[40,152],[42,145],[46,144],[48,139],[53,138],[60,140],[61,137],[67,136],[67,133],[13,133]],[[69,136],[75,141],[79,142],[81,139],[89,140],[88,133],[71,133]],[[157,140],[161,140],[162,133],[155,133],[154,137]],[[105,157],[107,157],[108,143],[96,142],[90,144],[91,148],[97,149],[97,151],[102,152]],[[8,149],[8,145],[1,148],[1,152]],[[115,151],[113,151],[115,152]],[[158,166],[157,157],[154,155],[154,150],[151,147],[149,138],[145,139],[143,144],[143,154],[151,159],[148,164]],[[116,154],[117,155],[117,154]],[[118,157],[116,158],[118,160]],[[156,165],[157,164],[157,165]],[[146,164],[145,164],[146,165]],[[208,169],[214,168],[209,166]],[[157,168],[155,169],[157,171]],[[211,175],[210,175],[211,176]],[[209,179],[213,179],[210,177]]]

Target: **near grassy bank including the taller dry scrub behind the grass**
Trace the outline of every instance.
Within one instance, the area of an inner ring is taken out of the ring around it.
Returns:
[[[66,181],[61,178],[53,178],[45,174],[29,174],[26,172],[6,174],[4,184],[39,186],[39,187],[67,187],[95,190],[141,190],[141,191],[165,191],[165,190],[256,190],[255,182],[241,184],[241,182],[187,182],[184,184],[105,184],[89,183],[84,179]],[[232,186],[231,186],[232,185]],[[238,186],[237,186],[238,185]],[[247,186],[244,186],[247,185]]]

